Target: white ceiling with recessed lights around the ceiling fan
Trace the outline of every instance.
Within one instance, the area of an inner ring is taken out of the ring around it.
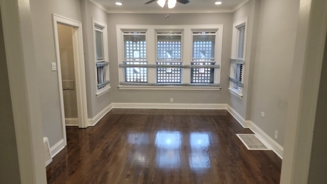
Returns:
[[[150,0],[90,0],[108,13],[218,13],[233,12],[249,0],[189,0],[188,4],[177,3],[176,7],[167,10],[156,2],[145,5]],[[221,5],[215,5],[221,1]],[[122,6],[115,2],[123,3]]]

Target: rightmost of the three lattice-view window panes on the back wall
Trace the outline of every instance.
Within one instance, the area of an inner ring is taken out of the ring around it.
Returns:
[[[217,32],[193,32],[191,65],[215,65]],[[191,83],[214,83],[215,68],[195,67],[191,69]]]

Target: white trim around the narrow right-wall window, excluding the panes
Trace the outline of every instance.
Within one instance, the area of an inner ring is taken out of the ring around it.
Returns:
[[[245,26],[245,41],[244,41],[244,53],[243,53],[243,60],[245,58],[246,54],[246,37],[247,37],[247,20],[248,17],[244,17],[236,22],[233,23],[233,34],[232,34],[232,42],[231,42],[231,59],[240,59],[237,56],[237,51],[238,51],[238,29],[242,26]],[[242,83],[244,82],[244,72],[245,71],[245,63],[243,64],[243,73],[242,73]],[[230,77],[235,76],[235,67],[233,67],[233,64],[230,64]],[[229,91],[232,95],[235,95],[236,97],[243,99],[243,87],[242,90],[238,90],[233,88],[233,83],[229,82]]]

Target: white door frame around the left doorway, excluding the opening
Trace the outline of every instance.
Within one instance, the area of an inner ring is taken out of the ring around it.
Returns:
[[[59,54],[59,39],[57,23],[64,24],[75,28],[73,32],[73,48],[74,48],[74,67],[76,79],[76,97],[77,97],[77,112],[78,112],[78,127],[87,127],[87,106],[86,106],[86,85],[85,85],[85,67],[84,67],[84,50],[83,50],[83,37],[82,37],[82,23],[72,20],[60,15],[52,14],[53,18],[53,31],[55,37],[55,52],[57,61],[57,74],[58,74],[58,87],[60,97],[60,111],[62,121],[62,131],[65,146],[66,129],[65,129],[65,113],[63,104],[62,81],[61,81],[61,67],[60,67],[60,54]]]

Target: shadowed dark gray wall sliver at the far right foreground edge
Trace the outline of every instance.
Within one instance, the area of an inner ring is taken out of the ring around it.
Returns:
[[[309,168],[308,183],[324,183],[327,181],[327,37],[325,41],[324,58],[322,61],[322,70],[320,76],[320,86],[318,95],[318,104],[316,110],[316,120],[313,131],[311,159]],[[322,162],[324,160],[324,162]]]

